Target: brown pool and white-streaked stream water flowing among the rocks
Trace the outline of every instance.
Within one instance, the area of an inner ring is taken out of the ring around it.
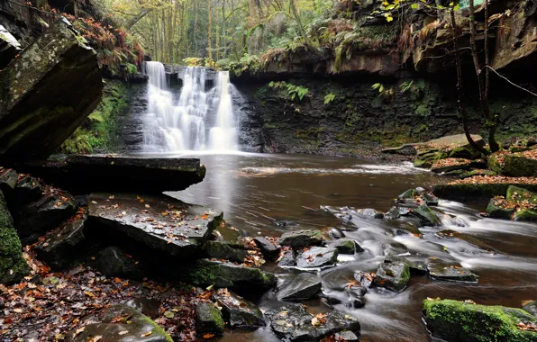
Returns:
[[[204,182],[180,193],[171,193],[186,202],[207,204],[224,211],[224,218],[251,236],[279,236],[287,229],[318,228],[341,224],[341,220],[321,206],[375,208],[387,211],[396,195],[408,188],[427,187],[438,181],[431,173],[410,164],[383,164],[343,157],[305,155],[201,155],[207,166]],[[345,222],[359,229],[346,232],[366,251],[341,258],[332,268],[317,270],[323,280],[323,293],[342,295],[342,286],[358,270],[375,271],[383,259],[382,243],[405,244],[410,253],[451,258],[479,275],[478,284],[433,281],[426,275],[413,276],[401,293],[370,289],[366,306],[347,311],[360,320],[362,341],[431,341],[422,320],[421,303],[427,297],[471,299],[482,304],[520,307],[524,300],[537,299],[537,224],[483,219],[477,210],[457,202],[441,201],[435,209],[444,216],[441,228],[421,229],[423,239],[395,236],[387,220],[357,218]],[[285,226],[282,224],[285,222]],[[454,229],[478,238],[498,253],[490,255],[463,242],[438,238],[441,229]],[[260,234],[259,234],[260,233]],[[293,269],[267,266],[277,275],[296,273]],[[261,310],[285,305],[274,293],[257,300]],[[309,311],[330,311],[324,300],[306,302]],[[235,331],[221,341],[278,341],[269,329]]]

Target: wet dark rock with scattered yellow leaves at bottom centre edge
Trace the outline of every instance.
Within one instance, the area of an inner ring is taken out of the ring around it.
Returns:
[[[323,319],[323,323],[312,324],[314,316],[307,313],[301,304],[290,304],[266,313],[270,328],[278,338],[289,341],[320,341],[343,330],[360,331],[359,321],[343,311],[334,310]],[[318,319],[316,319],[318,321]]]

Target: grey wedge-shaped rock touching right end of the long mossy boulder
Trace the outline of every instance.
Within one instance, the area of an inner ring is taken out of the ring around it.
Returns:
[[[278,285],[278,301],[300,302],[314,298],[321,292],[321,279],[317,275],[301,273],[286,278]]]

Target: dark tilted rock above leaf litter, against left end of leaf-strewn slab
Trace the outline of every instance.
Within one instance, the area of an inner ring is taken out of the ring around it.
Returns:
[[[79,254],[80,244],[86,240],[84,223],[86,217],[69,221],[57,231],[40,241],[34,248],[37,257],[45,261],[53,269],[68,266],[73,257]]]

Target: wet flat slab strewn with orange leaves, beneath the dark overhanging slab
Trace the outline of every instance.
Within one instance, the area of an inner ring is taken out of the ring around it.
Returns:
[[[193,256],[220,224],[223,212],[165,195],[92,193],[86,229],[114,229],[170,256]]]

